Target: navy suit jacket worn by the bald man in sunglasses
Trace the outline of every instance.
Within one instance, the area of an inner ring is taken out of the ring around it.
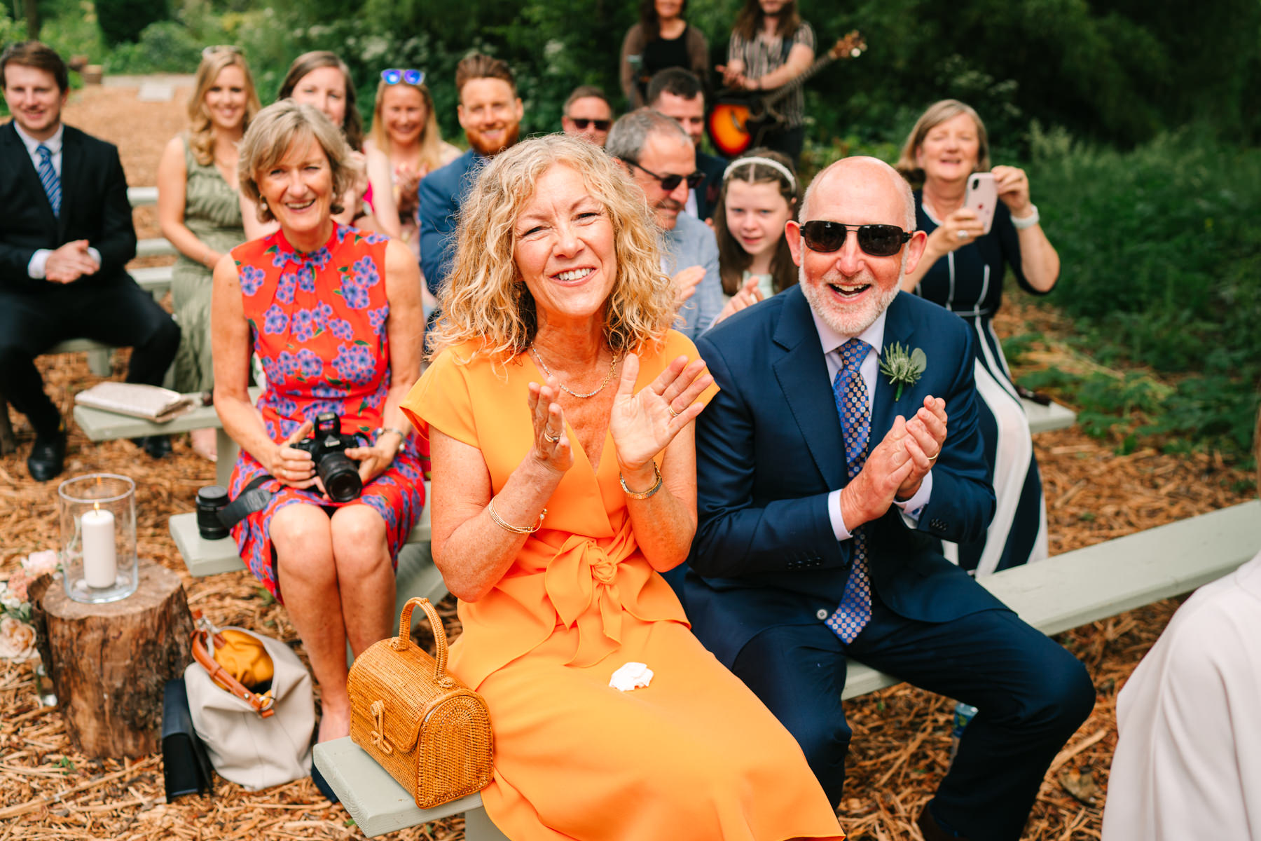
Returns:
[[[947,436],[918,528],[897,507],[868,523],[871,585],[892,610],[923,622],[1001,608],[939,543],[979,538],[994,516],[971,333],[941,306],[899,294],[884,329],[885,347],[893,342],[922,348],[928,366],[897,401],[878,376],[870,446],[927,395],[946,400]],[[696,347],[721,391],[697,420],[699,527],[685,603],[696,635],[730,667],[759,630],[820,622],[840,603],[852,541],[836,540],[827,494],[847,482],[845,445],[801,287],[726,319]]]

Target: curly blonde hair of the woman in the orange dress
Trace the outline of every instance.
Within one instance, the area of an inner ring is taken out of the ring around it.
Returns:
[[[604,343],[614,353],[661,347],[675,319],[675,293],[643,192],[594,144],[547,135],[496,155],[464,200],[455,260],[439,290],[443,311],[431,357],[477,342],[478,353],[511,358],[535,340],[538,315],[517,267],[514,226],[535,183],[556,164],[583,177],[613,224],[617,277],[604,308]]]

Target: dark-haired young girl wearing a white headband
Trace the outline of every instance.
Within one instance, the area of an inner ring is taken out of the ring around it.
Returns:
[[[792,161],[778,151],[754,149],[723,173],[714,232],[728,304],[719,320],[797,282],[784,223],[798,199]]]

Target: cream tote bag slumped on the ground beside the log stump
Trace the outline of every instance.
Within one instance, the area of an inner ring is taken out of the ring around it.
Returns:
[[[272,715],[260,715],[250,701],[216,683],[199,662],[189,663],[184,670],[188,707],[211,764],[219,777],[250,791],[309,777],[315,730],[311,676],[285,643],[245,628],[236,630],[260,639],[271,656]]]

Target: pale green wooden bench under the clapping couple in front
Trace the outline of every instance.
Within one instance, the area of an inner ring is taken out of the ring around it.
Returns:
[[[981,579],[981,584],[1047,634],[1189,593],[1252,557],[1261,546],[1261,502],[1057,555]],[[900,681],[851,663],[844,699]],[[468,841],[503,841],[479,796],[433,809],[416,807],[349,736],[315,745],[315,764],[368,837],[464,813]]]

